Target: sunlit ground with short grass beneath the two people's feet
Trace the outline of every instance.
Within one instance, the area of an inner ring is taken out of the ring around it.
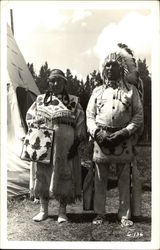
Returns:
[[[34,222],[39,204],[28,198],[8,202],[8,240],[12,241],[150,241],[151,240],[151,192],[142,195],[142,216],[130,228],[122,228],[117,221],[118,190],[107,192],[106,221],[92,225],[94,214],[84,212],[82,202],[67,207],[69,221],[57,223],[58,204],[51,200],[49,218]],[[137,234],[135,234],[137,233]]]

